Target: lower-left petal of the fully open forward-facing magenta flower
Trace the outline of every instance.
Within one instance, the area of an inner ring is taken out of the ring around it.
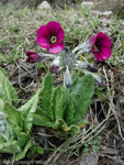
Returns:
[[[38,35],[36,41],[37,41],[37,44],[40,46],[44,47],[44,48],[49,48],[50,47],[49,41],[46,37],[42,36],[42,35]]]

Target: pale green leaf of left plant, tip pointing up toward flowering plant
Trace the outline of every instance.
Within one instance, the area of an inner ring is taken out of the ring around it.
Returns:
[[[38,90],[24,106],[18,109],[21,112],[21,118],[24,121],[24,132],[30,133],[33,124],[33,114],[36,111],[38,103],[38,96],[41,90]]]

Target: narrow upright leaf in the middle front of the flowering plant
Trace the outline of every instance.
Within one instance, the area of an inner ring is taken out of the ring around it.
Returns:
[[[55,121],[64,118],[66,88],[58,86],[53,91],[50,110],[55,112]]]

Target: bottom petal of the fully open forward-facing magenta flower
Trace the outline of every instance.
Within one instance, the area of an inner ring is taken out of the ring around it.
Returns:
[[[64,48],[64,43],[61,43],[61,44],[56,43],[50,48],[48,48],[48,52],[56,54],[56,53],[59,53],[60,51],[63,51],[63,48]]]

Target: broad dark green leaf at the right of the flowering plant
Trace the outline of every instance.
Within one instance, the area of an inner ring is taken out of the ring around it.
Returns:
[[[86,75],[81,77],[75,90],[71,91],[75,96],[76,113],[74,116],[74,121],[80,121],[84,116],[88,107],[91,102],[91,98],[94,92],[94,81],[91,75]]]

